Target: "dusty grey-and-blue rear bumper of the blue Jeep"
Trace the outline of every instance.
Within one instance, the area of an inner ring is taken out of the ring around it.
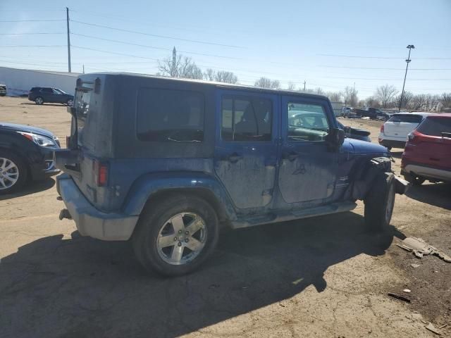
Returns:
[[[130,239],[137,223],[137,215],[104,213],[97,210],[87,201],[69,175],[56,177],[56,189],[82,236],[104,241]]]

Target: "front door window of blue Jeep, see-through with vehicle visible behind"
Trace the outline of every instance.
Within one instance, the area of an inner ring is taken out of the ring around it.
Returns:
[[[329,132],[326,111],[320,104],[288,102],[288,139],[324,141]]]

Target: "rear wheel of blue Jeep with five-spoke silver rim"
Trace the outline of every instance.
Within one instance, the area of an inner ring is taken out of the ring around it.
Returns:
[[[144,208],[132,244],[146,270],[185,275],[210,256],[218,234],[218,217],[209,203],[193,195],[171,194]]]

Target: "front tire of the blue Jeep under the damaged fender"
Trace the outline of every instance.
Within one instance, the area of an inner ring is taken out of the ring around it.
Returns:
[[[365,223],[373,231],[383,231],[390,225],[395,205],[395,175],[381,173],[364,199]]]

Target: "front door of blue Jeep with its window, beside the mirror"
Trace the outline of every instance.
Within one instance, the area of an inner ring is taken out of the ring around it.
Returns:
[[[326,142],[332,114],[326,99],[282,97],[278,185],[287,204],[314,206],[332,198],[338,166],[338,153]]]

